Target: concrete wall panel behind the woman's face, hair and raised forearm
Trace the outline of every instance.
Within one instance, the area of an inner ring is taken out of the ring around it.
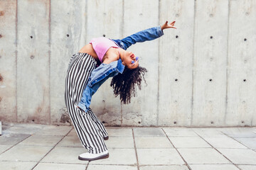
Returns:
[[[136,18],[136,19],[135,19]],[[124,1],[124,37],[159,25],[159,1]],[[156,125],[159,40],[142,42],[129,47],[146,67],[146,84],[137,89],[131,103],[122,104],[123,125]]]

